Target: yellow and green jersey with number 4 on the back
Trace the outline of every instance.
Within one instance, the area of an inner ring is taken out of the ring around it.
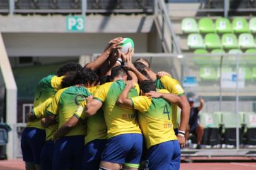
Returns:
[[[160,92],[169,93],[163,90]],[[131,101],[133,108],[139,111],[139,125],[148,149],[153,145],[177,140],[173,130],[172,108],[168,101],[147,96],[137,96]]]

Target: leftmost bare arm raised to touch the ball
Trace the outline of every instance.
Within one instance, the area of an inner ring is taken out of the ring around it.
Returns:
[[[104,52],[84,67],[92,69],[93,71],[99,69],[100,66],[108,59],[112,50],[121,48],[120,43],[122,43],[122,40],[124,40],[122,37],[118,37],[108,42],[107,48],[104,50]]]

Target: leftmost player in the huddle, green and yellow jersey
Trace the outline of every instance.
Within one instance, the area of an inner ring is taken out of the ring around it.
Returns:
[[[61,82],[65,74],[70,71],[81,70],[81,65],[69,62],[56,72],[41,79],[35,90],[33,106],[37,107],[47,99],[53,98],[57,90],[61,89]],[[40,119],[34,119],[26,124],[21,136],[21,151],[26,169],[40,169],[40,153],[45,144],[45,128]]]

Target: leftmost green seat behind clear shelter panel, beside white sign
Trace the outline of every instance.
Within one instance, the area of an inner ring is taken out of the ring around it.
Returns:
[[[203,81],[217,81],[218,80],[217,71],[216,69],[214,69],[214,67],[211,67],[211,66],[201,67],[200,78]]]

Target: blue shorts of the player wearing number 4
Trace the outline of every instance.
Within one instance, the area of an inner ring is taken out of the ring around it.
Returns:
[[[153,145],[148,149],[146,169],[180,169],[180,144],[178,140]]]

